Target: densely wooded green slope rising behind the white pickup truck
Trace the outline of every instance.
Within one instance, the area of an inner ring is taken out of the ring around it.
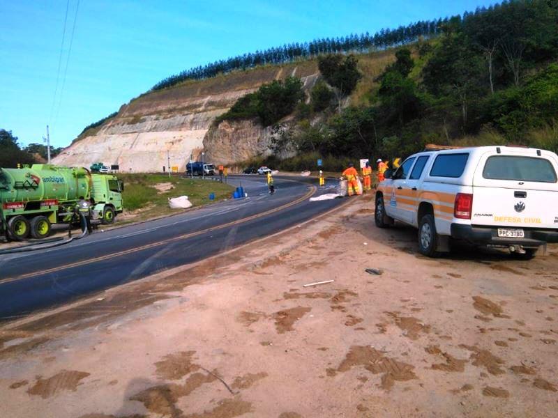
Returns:
[[[557,2],[511,1],[448,20],[436,38],[396,49],[380,74],[356,55],[361,79],[349,105],[340,109],[333,98],[324,116],[312,111],[312,100],[308,109],[300,104],[298,123],[276,144],[277,152],[290,147],[299,156],[263,162],[304,169],[319,156],[388,158],[428,143],[558,151],[557,22]],[[319,67],[339,93],[327,65]]]

